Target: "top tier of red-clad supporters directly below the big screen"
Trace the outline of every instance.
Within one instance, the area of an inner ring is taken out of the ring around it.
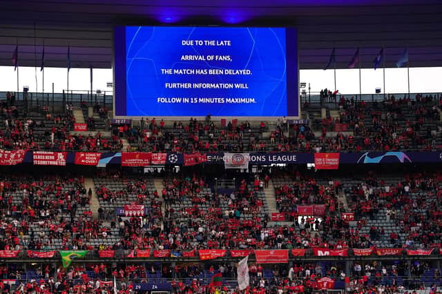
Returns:
[[[124,151],[184,153],[437,150],[442,144],[439,99],[435,97],[392,96],[382,102],[340,97],[338,105],[338,115],[327,115],[319,124],[313,117],[310,123],[296,124],[284,117],[252,124],[233,119],[220,126],[208,116],[200,121],[175,121],[169,126],[162,119],[146,117],[133,124],[111,125],[111,135],[104,136],[98,129],[95,135],[73,132],[71,108],[62,115],[46,109],[30,116],[20,106],[3,102],[0,148],[122,150],[123,138],[129,143]],[[103,108],[98,105],[94,109],[103,116]],[[94,117],[86,118],[86,123],[89,130],[95,130]]]

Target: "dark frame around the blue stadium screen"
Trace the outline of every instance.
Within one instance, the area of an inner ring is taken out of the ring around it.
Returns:
[[[127,26],[152,26],[152,25],[127,25]],[[124,107],[124,110],[126,111],[126,101],[127,101],[127,93],[126,93],[126,58],[122,58],[122,60],[119,60],[117,62],[116,60],[116,49],[119,50],[119,53],[121,54],[126,52],[126,27],[125,25],[118,25],[114,27],[113,30],[113,48],[112,48],[112,70],[113,70],[113,118],[115,119],[140,119],[142,117],[146,117],[143,115],[120,115],[117,114],[117,108]],[[182,28],[182,27],[213,27],[213,26],[203,26],[203,25],[188,25],[188,26],[155,26],[155,27],[168,27],[168,28]],[[289,105],[295,104],[297,101],[297,112],[298,115],[287,115],[285,116],[287,119],[300,119],[301,117],[301,98],[300,98],[300,69],[299,69],[299,50],[298,50],[298,30],[297,28],[293,26],[216,26],[218,28],[285,28],[286,32],[286,62],[287,62],[287,68],[290,66],[294,67],[294,70],[291,71],[291,75],[289,75],[289,71],[287,70],[286,73],[286,91],[287,91],[287,112],[289,111]],[[290,32],[290,34],[289,34]],[[119,34],[117,38],[117,34]],[[291,38],[289,38],[291,37]],[[115,43],[115,40],[122,39],[124,41],[119,42],[118,44]],[[119,46],[119,48],[117,48]],[[295,54],[289,55],[287,52],[289,50],[295,50]],[[296,60],[290,60],[289,57],[292,57]],[[295,62],[296,61],[296,62]],[[116,67],[119,67],[119,70],[116,70]],[[117,72],[119,75],[117,76]],[[289,78],[291,77],[291,81],[289,82]],[[289,95],[289,91],[291,91],[293,94]],[[122,95],[124,99],[117,99],[117,95]],[[118,105],[117,105],[118,102]],[[292,106],[293,107],[293,106]],[[164,119],[165,121],[179,121],[179,120],[188,120],[190,117],[196,118],[198,120],[204,119],[205,116],[155,116],[160,117],[161,119]],[[275,120],[278,117],[282,116],[211,116],[211,118],[215,121],[219,121],[220,119],[238,119],[243,118],[247,119],[249,121],[271,121]]]

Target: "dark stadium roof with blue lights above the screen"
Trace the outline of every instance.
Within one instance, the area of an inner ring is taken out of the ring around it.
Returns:
[[[0,66],[19,43],[20,66],[110,68],[113,26],[295,26],[300,68],[323,68],[336,47],[345,68],[357,47],[371,67],[382,46],[386,66],[409,48],[410,66],[442,66],[440,0],[1,0]],[[34,44],[37,44],[35,48]]]

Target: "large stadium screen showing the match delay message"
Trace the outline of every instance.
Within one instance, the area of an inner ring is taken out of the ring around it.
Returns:
[[[115,115],[298,117],[294,28],[115,28]]]

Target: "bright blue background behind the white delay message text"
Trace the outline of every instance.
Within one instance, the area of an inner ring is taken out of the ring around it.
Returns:
[[[126,111],[116,109],[117,115],[292,115],[287,111],[285,28],[131,26],[124,30]],[[230,40],[231,46],[182,46],[182,40],[195,39]],[[180,61],[182,55],[230,55],[232,61]],[[251,75],[163,75],[162,68],[249,69]],[[249,89],[171,89],[165,88],[166,83],[242,83]],[[157,97],[244,97],[256,103],[164,104]]]

